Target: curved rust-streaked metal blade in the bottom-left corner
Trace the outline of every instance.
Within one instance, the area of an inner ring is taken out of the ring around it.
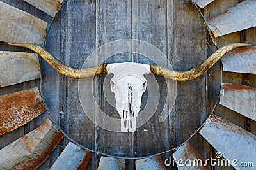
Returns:
[[[63,138],[51,120],[0,150],[0,169],[36,169]]]

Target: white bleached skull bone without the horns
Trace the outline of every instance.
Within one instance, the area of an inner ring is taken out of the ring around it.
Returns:
[[[121,131],[134,132],[136,117],[140,112],[141,97],[146,91],[147,80],[144,74],[150,73],[148,64],[133,62],[108,64],[108,73],[114,74],[110,80],[115,93],[116,110],[121,117]]]

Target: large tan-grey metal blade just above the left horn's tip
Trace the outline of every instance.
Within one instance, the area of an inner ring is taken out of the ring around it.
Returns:
[[[47,22],[0,1],[0,41],[42,45]]]

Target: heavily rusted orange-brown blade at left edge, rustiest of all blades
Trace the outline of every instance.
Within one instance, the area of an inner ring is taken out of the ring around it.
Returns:
[[[0,96],[0,136],[28,123],[44,111],[37,87]]]

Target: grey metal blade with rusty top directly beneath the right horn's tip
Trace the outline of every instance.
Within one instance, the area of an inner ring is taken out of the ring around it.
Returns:
[[[256,74],[256,47],[237,48],[222,59],[223,71]]]

